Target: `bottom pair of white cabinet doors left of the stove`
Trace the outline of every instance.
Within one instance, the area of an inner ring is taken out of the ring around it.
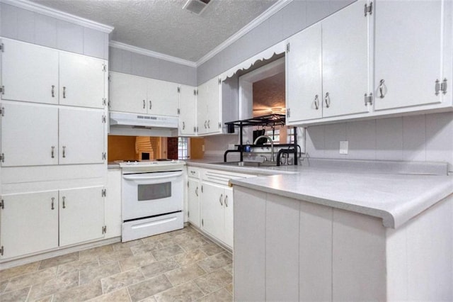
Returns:
[[[104,237],[103,186],[1,196],[0,259]]]

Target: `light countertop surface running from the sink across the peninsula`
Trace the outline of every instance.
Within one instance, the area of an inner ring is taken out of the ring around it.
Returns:
[[[398,228],[453,194],[453,177],[447,176],[445,163],[323,160],[311,160],[311,163],[256,168],[210,164],[207,160],[188,161],[189,166],[258,174],[260,177],[230,182],[382,218],[388,228]]]

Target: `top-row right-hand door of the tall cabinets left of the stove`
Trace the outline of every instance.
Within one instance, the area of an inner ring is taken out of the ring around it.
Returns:
[[[105,61],[59,53],[59,104],[103,108]]]

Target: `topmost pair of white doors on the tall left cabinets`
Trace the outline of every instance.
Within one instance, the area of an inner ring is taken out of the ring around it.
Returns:
[[[106,61],[3,39],[1,99],[103,108]]]

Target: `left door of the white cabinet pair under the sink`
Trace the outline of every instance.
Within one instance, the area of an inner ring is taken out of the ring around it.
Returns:
[[[224,241],[224,206],[222,186],[202,182],[200,196],[201,228],[220,241]]]

